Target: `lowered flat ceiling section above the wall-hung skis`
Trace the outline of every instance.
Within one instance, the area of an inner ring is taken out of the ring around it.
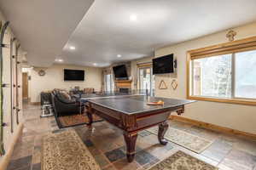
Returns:
[[[0,10],[30,65],[49,66],[61,54],[94,0],[0,0]]]

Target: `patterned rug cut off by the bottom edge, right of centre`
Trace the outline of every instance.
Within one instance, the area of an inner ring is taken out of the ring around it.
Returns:
[[[182,151],[177,151],[164,161],[149,168],[149,170],[218,170],[204,161],[200,161],[193,156],[189,156]]]

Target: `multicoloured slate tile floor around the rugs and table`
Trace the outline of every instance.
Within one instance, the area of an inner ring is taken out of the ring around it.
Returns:
[[[22,137],[15,145],[8,170],[41,169],[41,145],[44,134],[58,133],[61,130],[57,127],[53,116],[40,118],[40,111],[38,105],[24,105],[25,128]],[[201,154],[195,154],[172,142],[166,146],[160,145],[154,134],[143,131],[137,138],[135,161],[128,163],[125,158],[124,139],[119,129],[107,122],[96,122],[92,128],[86,126],[73,128],[103,170],[147,169],[177,150],[183,150],[202,161],[207,161],[220,170],[256,170],[256,141],[216,133],[183,122],[172,121],[170,126],[214,142]]]

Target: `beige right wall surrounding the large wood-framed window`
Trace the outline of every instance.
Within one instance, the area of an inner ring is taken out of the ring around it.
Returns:
[[[256,36],[256,23],[233,29],[237,32],[236,40]],[[174,54],[177,58],[177,89],[173,90],[171,82],[173,75],[156,76],[156,86],[161,80],[166,82],[168,89],[156,88],[155,94],[168,98],[186,98],[186,52],[190,49],[203,48],[210,45],[227,42],[225,34],[221,31],[192,41],[179,43],[155,51],[155,57],[165,54]],[[175,77],[175,76],[174,76]],[[198,101],[185,108],[183,116],[202,122],[209,122],[222,127],[230,127],[247,133],[256,134],[256,107],[248,105],[232,105],[216,102]]]

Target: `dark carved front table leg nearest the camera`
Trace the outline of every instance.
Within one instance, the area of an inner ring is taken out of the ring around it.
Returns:
[[[126,156],[129,162],[133,161],[135,156],[135,145],[137,140],[137,133],[124,132],[125,144],[126,144]]]

